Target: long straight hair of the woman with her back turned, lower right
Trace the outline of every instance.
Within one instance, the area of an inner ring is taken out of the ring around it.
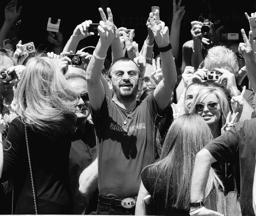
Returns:
[[[149,165],[149,185],[154,185],[153,199],[163,199],[159,191],[166,190],[165,207],[189,210],[191,178],[196,154],[212,140],[210,127],[197,113],[185,113],[175,119],[165,137],[159,161]],[[154,177],[152,177],[154,176]],[[211,168],[205,198],[222,185]],[[159,197],[160,196],[160,197]]]

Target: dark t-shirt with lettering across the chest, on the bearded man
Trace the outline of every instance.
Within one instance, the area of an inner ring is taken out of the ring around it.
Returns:
[[[133,112],[118,107],[124,119],[117,107],[105,97],[99,115],[92,113],[98,138],[99,191],[105,196],[135,197],[140,188],[140,172],[154,162],[155,99],[149,95],[140,105],[137,103]]]

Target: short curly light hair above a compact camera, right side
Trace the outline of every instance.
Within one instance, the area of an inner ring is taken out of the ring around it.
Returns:
[[[231,73],[237,76],[239,66],[236,59],[236,54],[225,46],[215,46],[208,50],[208,53],[204,59],[204,68],[208,70],[214,70],[216,65],[220,68],[225,68],[229,66],[231,68]]]

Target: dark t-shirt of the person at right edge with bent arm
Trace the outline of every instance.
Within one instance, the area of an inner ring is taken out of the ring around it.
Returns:
[[[204,148],[223,164],[228,162],[240,170],[242,215],[254,215],[252,185],[256,154],[256,119],[238,122]],[[238,177],[238,176],[237,176]]]

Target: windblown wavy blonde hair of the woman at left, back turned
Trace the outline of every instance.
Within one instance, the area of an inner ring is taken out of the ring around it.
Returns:
[[[33,131],[58,137],[75,129],[79,95],[49,57],[36,54],[26,63],[14,101],[18,115]]]

